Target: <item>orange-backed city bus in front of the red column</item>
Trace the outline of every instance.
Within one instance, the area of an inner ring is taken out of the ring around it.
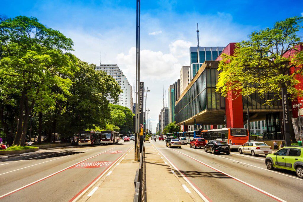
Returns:
[[[201,137],[205,140],[222,140],[229,144],[231,149],[238,149],[249,140],[246,128],[221,128],[201,131]]]

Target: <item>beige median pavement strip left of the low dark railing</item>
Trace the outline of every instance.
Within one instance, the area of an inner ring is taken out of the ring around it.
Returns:
[[[102,177],[78,201],[133,201],[134,179],[138,167],[139,162],[134,161],[134,149],[131,149],[127,156],[108,172],[109,175]],[[92,196],[88,196],[94,189],[96,190]]]

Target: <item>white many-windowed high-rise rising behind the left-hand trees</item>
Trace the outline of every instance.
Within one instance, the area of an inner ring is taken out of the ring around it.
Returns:
[[[129,108],[133,111],[133,100],[132,100],[132,86],[129,84],[126,76],[123,74],[122,70],[119,69],[117,64],[100,64],[96,66],[95,70],[105,71],[107,75],[112,76],[115,81],[120,85],[123,92],[118,96],[117,103],[114,103],[114,99],[110,96],[107,97],[107,100],[111,104],[118,104],[123,107]]]

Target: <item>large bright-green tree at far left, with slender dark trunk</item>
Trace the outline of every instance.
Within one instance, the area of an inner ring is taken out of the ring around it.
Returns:
[[[74,56],[63,51],[72,50],[73,43],[33,17],[6,19],[0,30],[0,100],[17,106],[14,144],[24,145],[29,115],[34,107],[41,107],[39,101],[53,106],[55,100],[65,100],[70,95],[70,77],[78,69]]]

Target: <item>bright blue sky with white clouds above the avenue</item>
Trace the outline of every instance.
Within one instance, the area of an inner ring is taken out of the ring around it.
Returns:
[[[116,63],[133,84],[135,72],[136,1],[14,1],[1,0],[0,15],[34,16],[72,38],[74,54],[99,64]],[[162,94],[189,65],[189,47],[226,46],[278,20],[303,16],[303,1],[141,1],[142,80],[151,89],[147,107],[155,131]],[[301,32],[302,33],[302,32]],[[302,34],[303,35],[303,34]]]

